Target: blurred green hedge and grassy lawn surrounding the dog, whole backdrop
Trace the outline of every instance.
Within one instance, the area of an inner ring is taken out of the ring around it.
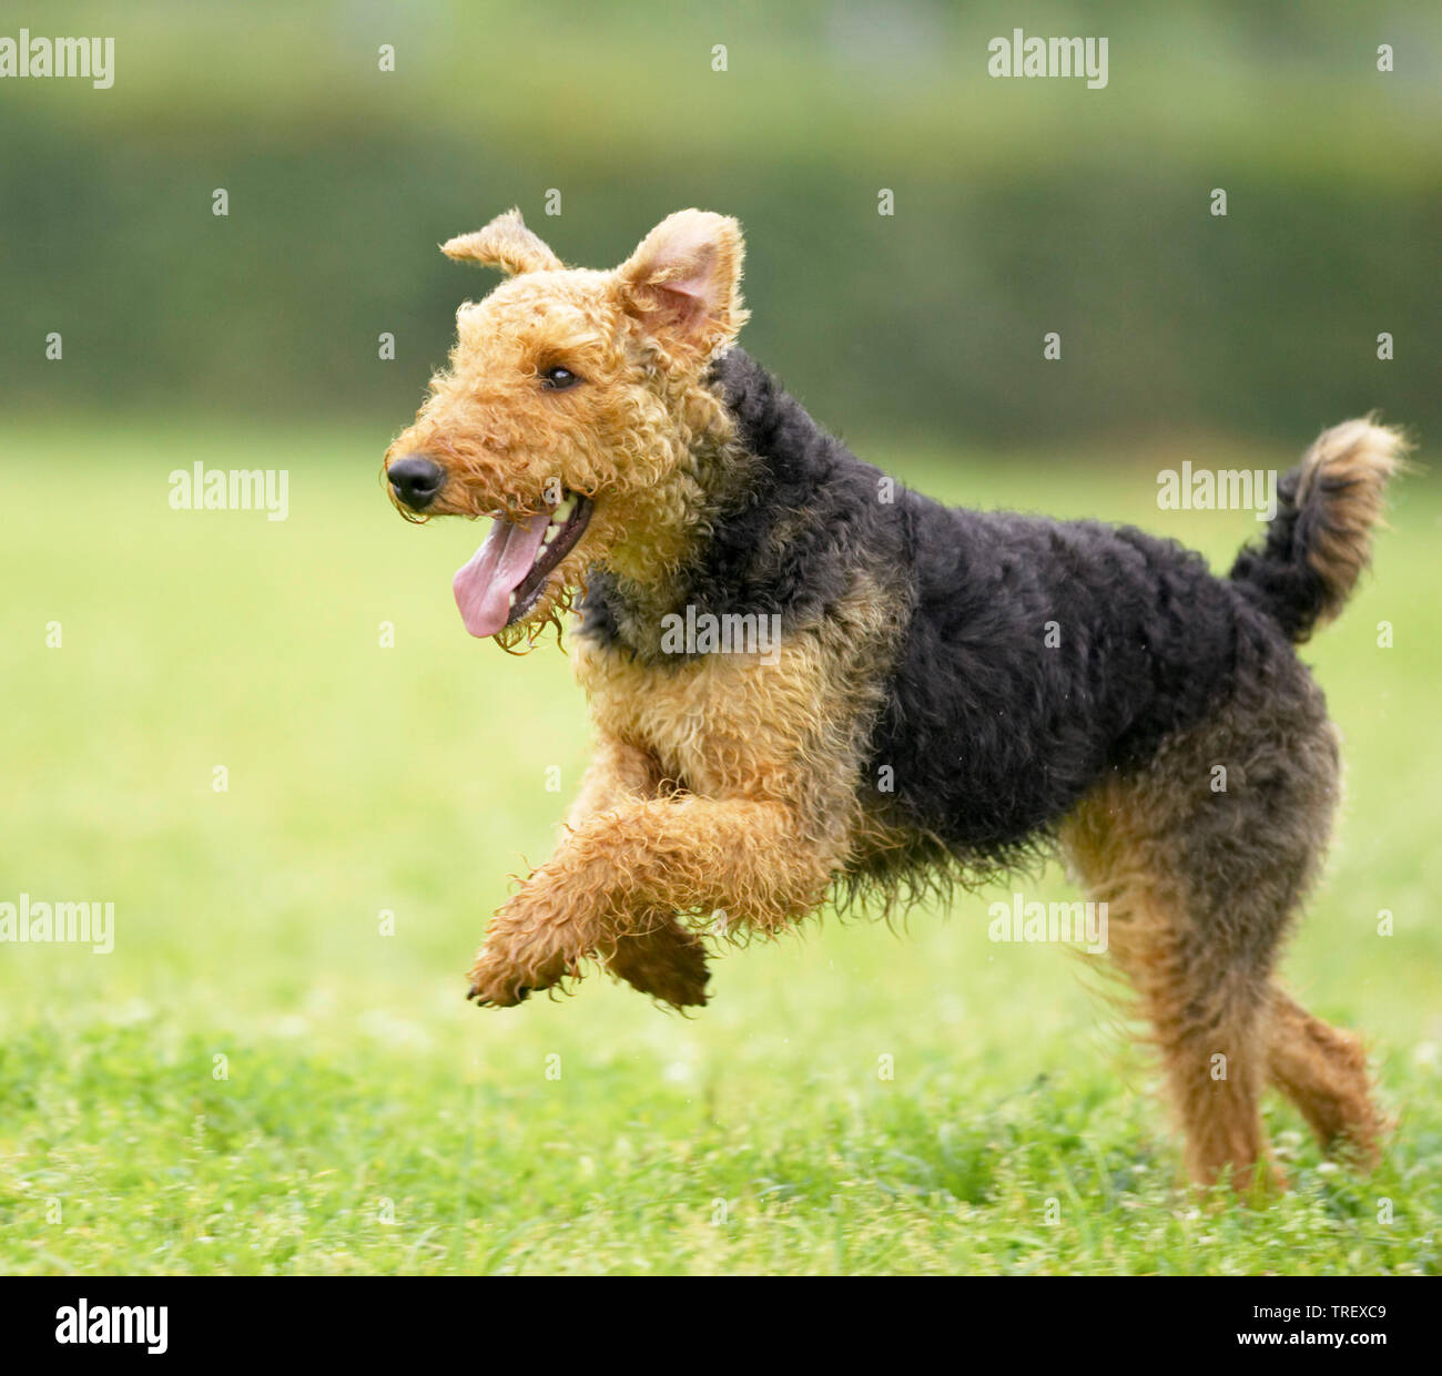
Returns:
[[[1285,968],[1370,1040],[1399,1121],[1376,1174],[1269,1101],[1292,1193],[1182,1192],[1094,967],[986,938],[1012,888],[1069,896],[1057,870],[727,955],[689,1019],[598,975],[506,1013],[463,999],[587,731],[552,648],[463,634],[450,573],[480,532],[411,527],[381,491],[456,304],[493,281],[441,239],[515,203],[609,265],[673,209],[735,213],[747,346],[865,457],[1216,566],[1256,522],[1158,510],[1161,468],[1282,467],[1371,406],[1428,461],[1442,16],[1139,9],[26,20],[112,33],[117,76],[0,82],[0,902],[110,901],[117,934],[0,947],[0,1269],[1442,1269],[1426,475],[1304,653],[1348,801]],[[1015,24],[1109,36],[1109,86],[988,79]],[[195,461],[288,471],[288,519],[172,511]]]

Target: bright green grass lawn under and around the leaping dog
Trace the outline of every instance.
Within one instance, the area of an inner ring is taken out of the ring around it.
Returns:
[[[1269,1101],[1293,1192],[1197,1209],[1151,1068],[1076,960],[988,942],[985,898],[718,960],[691,1019],[601,977],[467,1006],[505,876],[577,784],[583,702],[555,651],[463,634],[448,579],[479,530],[405,526],[382,445],[4,437],[46,501],[0,555],[0,902],[108,899],[117,938],[0,945],[0,1269],[1442,1269],[1435,487],[1400,490],[1376,576],[1308,650],[1348,807],[1288,957],[1308,1006],[1373,1039],[1402,1125],[1360,1179]],[[868,452],[953,500],[1131,519],[1218,562],[1255,530],[1158,511],[1155,460]],[[167,474],[198,458],[288,468],[290,519],[172,511]]]

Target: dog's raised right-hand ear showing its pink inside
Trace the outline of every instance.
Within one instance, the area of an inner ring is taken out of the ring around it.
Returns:
[[[623,305],[668,349],[708,359],[746,324],[743,254],[734,219],[678,210],[616,269]]]

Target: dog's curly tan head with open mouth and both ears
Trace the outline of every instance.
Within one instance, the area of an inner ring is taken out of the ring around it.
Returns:
[[[593,272],[510,210],[443,252],[509,277],[457,311],[450,365],[385,473],[411,519],[495,517],[454,592],[473,635],[510,647],[557,620],[588,568],[636,576],[679,558],[691,442],[725,424],[702,376],[746,320],[741,228],[681,210]]]

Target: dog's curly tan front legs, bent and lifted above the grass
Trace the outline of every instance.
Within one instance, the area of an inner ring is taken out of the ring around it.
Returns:
[[[820,903],[835,857],[771,801],[682,795],[587,818],[496,913],[470,971],[472,997],[513,1004],[580,974],[584,960],[622,961],[678,1007],[705,1000],[692,944],[645,942],[660,918],[725,913],[774,931]],[[699,980],[698,980],[699,977]],[[627,975],[629,978],[629,975]],[[633,981],[636,983],[636,981]]]

